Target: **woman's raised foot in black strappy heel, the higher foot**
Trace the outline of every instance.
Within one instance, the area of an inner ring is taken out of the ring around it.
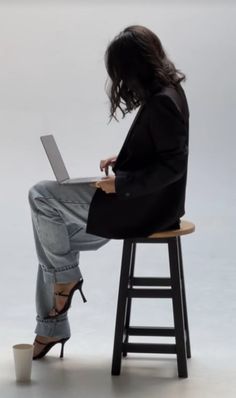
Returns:
[[[68,300],[68,296],[73,289],[73,287],[78,283],[69,282],[69,283],[55,283],[54,285],[54,308],[50,310],[48,313],[49,317],[56,316],[65,306],[66,301]],[[57,293],[61,293],[59,295]]]

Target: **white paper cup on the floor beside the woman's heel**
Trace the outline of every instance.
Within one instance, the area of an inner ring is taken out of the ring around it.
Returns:
[[[16,344],[12,348],[16,381],[30,381],[34,346],[32,344]]]

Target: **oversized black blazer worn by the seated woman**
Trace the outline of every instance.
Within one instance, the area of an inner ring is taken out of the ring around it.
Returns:
[[[96,190],[88,233],[122,239],[178,227],[185,212],[188,120],[181,85],[155,91],[140,107],[113,168],[116,193]]]

